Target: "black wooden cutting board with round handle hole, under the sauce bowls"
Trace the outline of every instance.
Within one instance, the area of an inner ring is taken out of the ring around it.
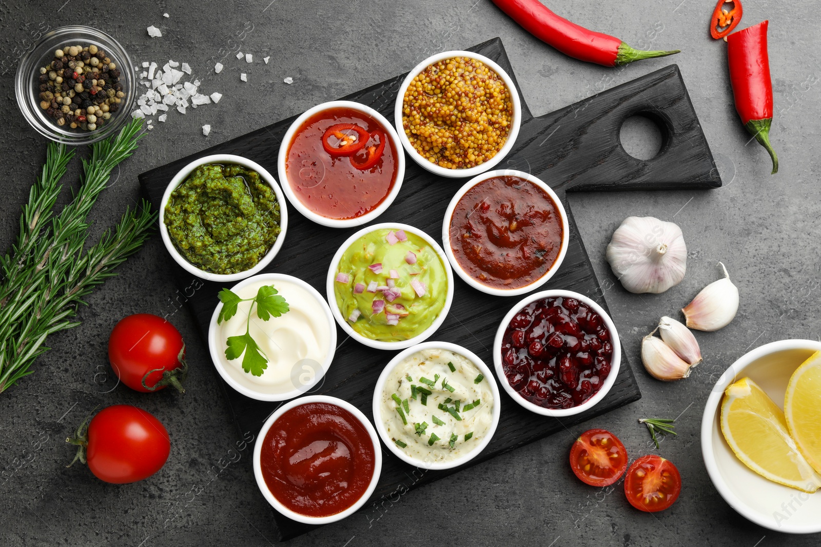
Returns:
[[[500,39],[480,43],[470,51],[498,62],[511,77],[507,54]],[[397,90],[405,75],[373,85],[346,97],[365,103],[393,119]],[[521,94],[521,93],[520,93]],[[330,99],[330,98],[329,98]],[[649,161],[628,155],[621,147],[619,131],[630,116],[642,114],[657,121],[663,134],[662,150]],[[140,175],[140,185],[154,207],[158,207],[163,192],[172,177],[187,163],[211,153],[232,153],[247,157],[276,176],[277,153],[282,136],[296,116],[278,121],[249,134],[218,144],[200,153],[157,167]],[[576,223],[572,219],[567,193],[592,190],[624,189],[709,189],[721,186],[718,170],[704,133],[695,116],[690,96],[676,65],[667,66],[626,84],[586,98],[579,103],[534,118],[522,98],[521,130],[510,155],[497,168],[528,171],[544,180],[562,199],[570,213],[570,246],[562,267],[541,289],[570,289],[586,294],[607,309],[593,267],[585,251]],[[447,203],[465,180],[448,180],[424,171],[410,159],[405,180],[396,201],[378,221],[398,221],[416,226],[438,239]],[[282,249],[265,271],[277,271],[300,277],[325,294],[328,261],[339,245],[356,229],[335,230],[314,224],[289,207],[287,237]],[[602,249],[595,251],[602,253]],[[176,283],[181,293],[190,294],[192,277],[176,268]],[[209,321],[217,305],[221,285],[203,282],[187,300],[203,343],[206,343]],[[445,340],[460,344],[475,352],[493,367],[491,348],[499,321],[519,299],[495,297],[471,289],[459,277],[453,304],[447,320],[430,340]],[[617,325],[618,327],[618,325]],[[376,379],[384,365],[396,352],[369,349],[346,335],[337,326],[339,340],[333,364],[315,394],[328,394],[345,399],[360,408],[369,418]],[[195,364],[196,363],[192,363]],[[209,366],[209,363],[199,363]],[[236,425],[241,433],[254,434],[279,403],[264,403],[236,393],[218,375]],[[621,370],[616,384],[595,408],[561,422],[526,411],[502,393],[502,417],[488,447],[468,465],[483,462],[511,449],[539,440],[590,417],[640,399],[641,394],[626,354],[622,352]],[[468,466],[464,466],[468,467]],[[447,471],[424,471],[402,463],[383,448],[383,468],[377,489],[362,511],[365,517],[378,516],[376,504],[390,503],[397,493],[411,490],[438,478],[458,472],[464,467]],[[260,495],[250,482],[248,495]],[[273,512],[273,510],[272,510]],[[309,531],[313,526],[293,522],[273,512],[277,536],[287,540]],[[355,515],[351,518],[362,518]]]

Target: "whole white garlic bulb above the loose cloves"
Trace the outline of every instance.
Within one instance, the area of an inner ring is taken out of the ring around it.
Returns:
[[[631,293],[663,293],[684,279],[687,246],[681,228],[654,217],[627,217],[613,232],[610,267]]]

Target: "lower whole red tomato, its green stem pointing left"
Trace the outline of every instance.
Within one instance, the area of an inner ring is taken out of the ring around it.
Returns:
[[[84,424],[85,426],[85,424]],[[101,481],[126,484],[154,475],[165,464],[171,444],[157,418],[130,404],[103,408],[85,434],[80,426],[71,444],[85,448],[89,469]],[[72,462],[73,463],[73,462]]]

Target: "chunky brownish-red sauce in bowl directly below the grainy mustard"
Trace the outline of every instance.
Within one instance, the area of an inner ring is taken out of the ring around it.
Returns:
[[[562,217],[539,186],[517,176],[483,180],[453,210],[456,262],[483,285],[518,289],[544,276],[562,248]]]

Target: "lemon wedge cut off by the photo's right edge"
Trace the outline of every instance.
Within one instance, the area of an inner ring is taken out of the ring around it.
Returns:
[[[784,417],[798,451],[821,473],[821,351],[792,373],[784,396]]]

